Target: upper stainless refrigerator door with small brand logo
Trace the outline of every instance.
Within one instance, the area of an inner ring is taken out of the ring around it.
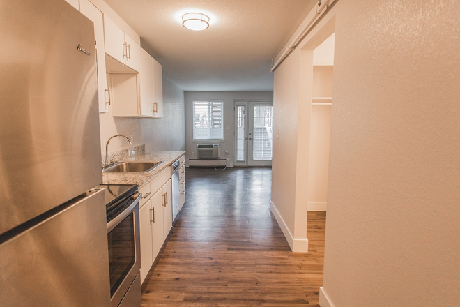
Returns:
[[[63,0],[0,7],[1,234],[102,174],[93,22]]]

